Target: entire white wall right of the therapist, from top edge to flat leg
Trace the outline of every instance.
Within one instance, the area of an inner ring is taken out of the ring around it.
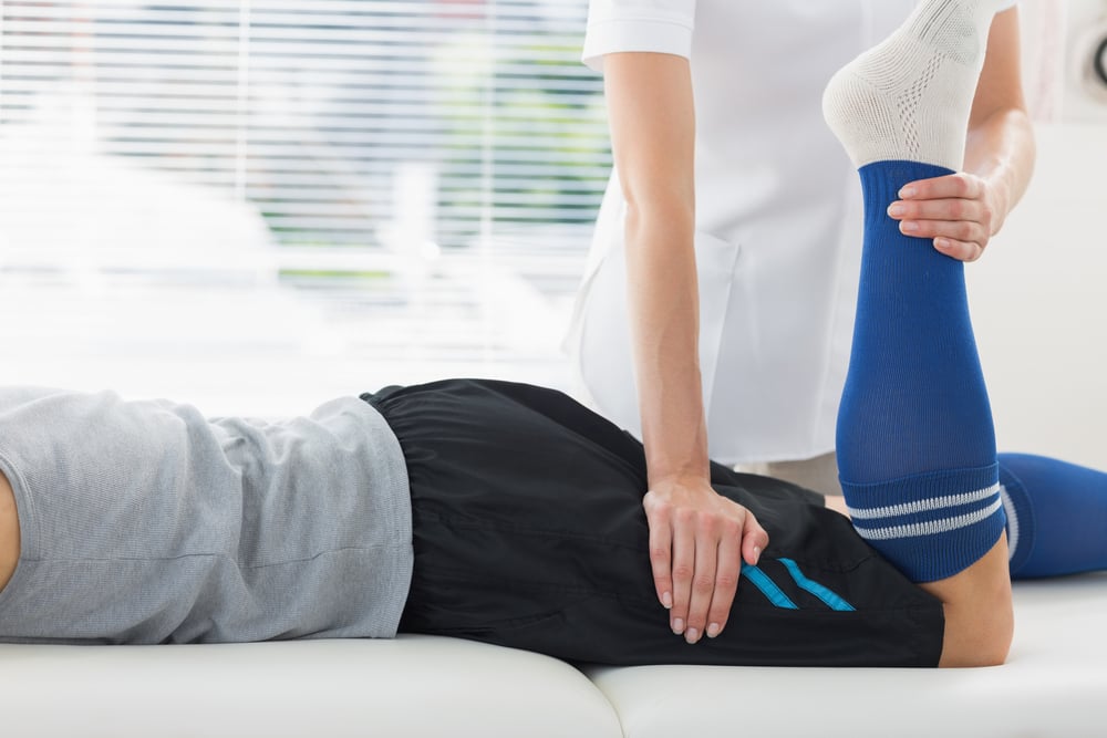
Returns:
[[[969,295],[1001,450],[1107,469],[1107,85],[1089,84],[1107,0],[1026,0],[1038,160]]]

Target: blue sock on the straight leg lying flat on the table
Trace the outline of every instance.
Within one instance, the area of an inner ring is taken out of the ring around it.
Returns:
[[[1107,569],[1107,474],[1058,459],[1000,454],[1011,576]]]

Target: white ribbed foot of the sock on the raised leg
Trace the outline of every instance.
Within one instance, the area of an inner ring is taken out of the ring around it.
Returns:
[[[909,160],[958,171],[999,0],[923,0],[891,37],[844,66],[823,113],[858,168]]]

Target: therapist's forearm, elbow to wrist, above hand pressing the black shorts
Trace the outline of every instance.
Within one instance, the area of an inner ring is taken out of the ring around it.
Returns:
[[[629,313],[650,485],[706,482],[693,216],[680,207],[631,206],[625,227]]]

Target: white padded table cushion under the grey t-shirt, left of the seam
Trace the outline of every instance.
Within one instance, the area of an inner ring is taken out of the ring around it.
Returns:
[[[11,738],[618,738],[580,672],[468,641],[0,646]]]

